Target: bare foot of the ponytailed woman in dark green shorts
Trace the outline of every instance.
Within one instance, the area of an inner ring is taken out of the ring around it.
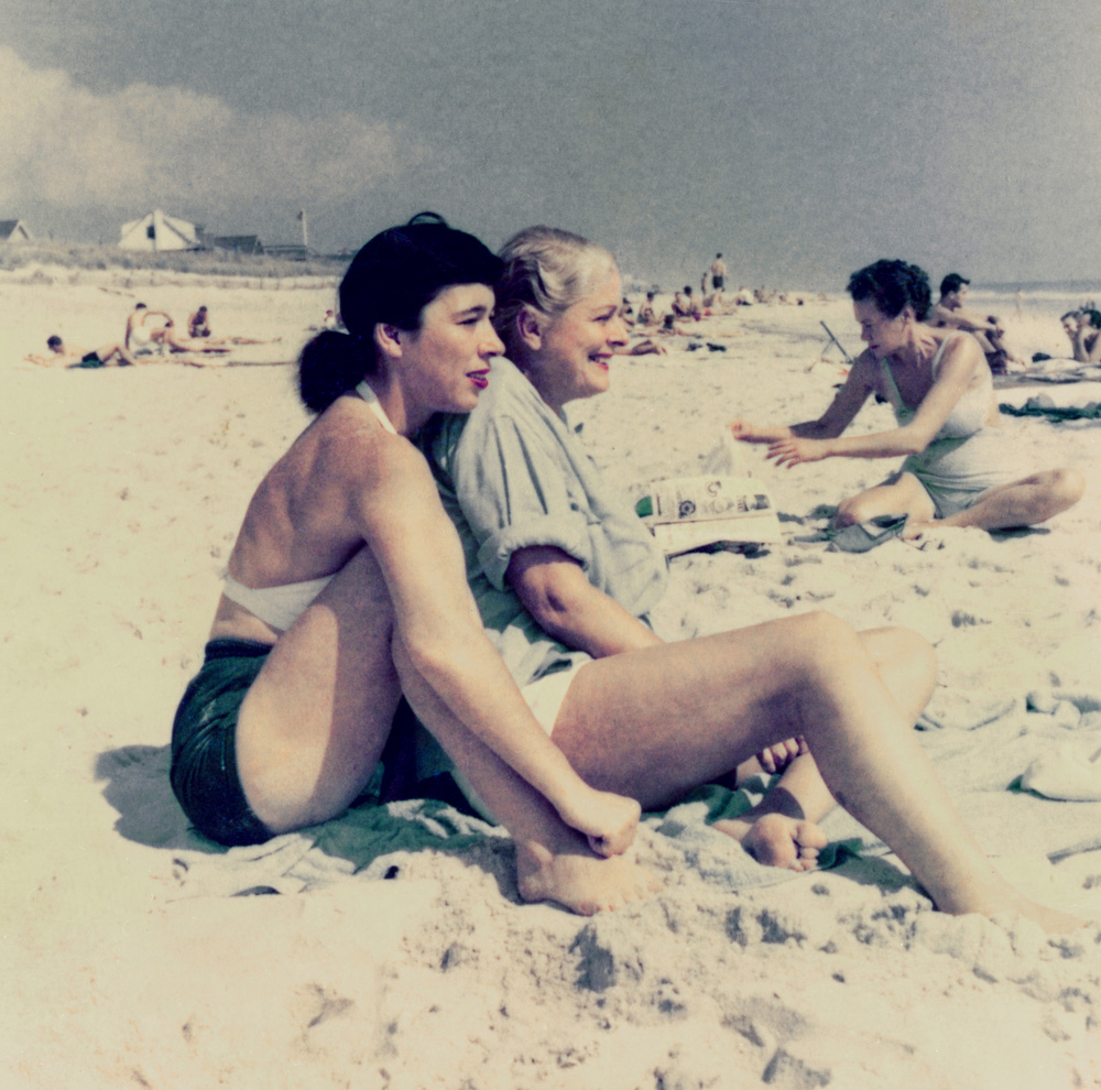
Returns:
[[[633,859],[606,859],[571,830],[552,848],[516,843],[516,885],[527,902],[554,901],[581,916],[622,908],[661,887],[657,875]]]

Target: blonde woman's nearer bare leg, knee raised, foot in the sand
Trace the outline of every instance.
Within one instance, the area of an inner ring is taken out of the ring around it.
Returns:
[[[595,786],[653,807],[793,732],[807,739],[838,802],[941,911],[1078,923],[994,872],[857,633],[827,613],[589,663],[566,694],[554,740]]]

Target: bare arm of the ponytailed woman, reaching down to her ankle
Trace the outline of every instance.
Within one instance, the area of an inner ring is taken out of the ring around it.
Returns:
[[[462,552],[428,467],[405,440],[373,444],[356,517],[382,569],[410,661],[453,715],[604,854],[626,849],[637,807],[590,788],[528,709],[486,635]]]

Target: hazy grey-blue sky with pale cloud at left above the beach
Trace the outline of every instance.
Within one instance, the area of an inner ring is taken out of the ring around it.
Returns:
[[[624,271],[1101,276],[1095,0],[7,0],[0,219],[356,248],[422,208]]]

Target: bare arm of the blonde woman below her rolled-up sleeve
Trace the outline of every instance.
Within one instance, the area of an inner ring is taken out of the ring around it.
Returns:
[[[633,613],[593,587],[578,560],[553,545],[516,549],[505,578],[547,635],[593,658],[662,642]]]

